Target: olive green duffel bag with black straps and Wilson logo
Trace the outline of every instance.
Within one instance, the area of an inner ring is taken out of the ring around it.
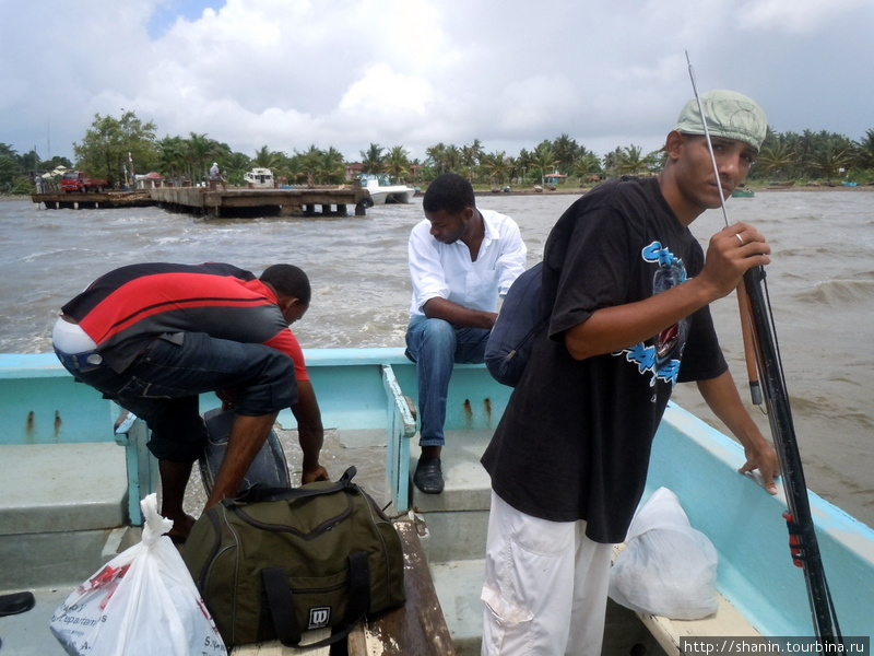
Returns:
[[[184,559],[225,644],[305,631],[344,637],[366,614],[404,602],[403,550],[394,526],[352,482],[253,488],[194,524]]]

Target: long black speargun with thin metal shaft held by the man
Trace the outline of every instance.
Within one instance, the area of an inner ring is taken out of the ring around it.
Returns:
[[[717,165],[713,144],[710,141],[710,132],[707,128],[704,104],[695,84],[695,72],[692,68],[688,51],[686,51],[686,61],[688,62],[692,89],[695,92],[695,99],[698,103],[698,110],[701,115],[705,139],[710,152],[710,162],[717,179],[722,215],[728,227],[729,214],[725,210],[722,185],[719,184],[719,166]],[[741,288],[743,288],[743,291],[741,291]],[[802,469],[795,426],[792,421],[792,409],[789,405],[789,394],[787,393],[783,366],[777,343],[777,331],[765,281],[764,267],[756,266],[744,273],[743,284],[739,286],[739,302],[742,308],[741,320],[745,330],[744,341],[753,345],[756,368],[761,380],[761,393],[768,408],[768,423],[771,429],[775,450],[780,461],[783,491],[786,492],[787,506],[789,508],[783,513],[783,518],[789,529],[789,550],[792,555],[792,562],[804,572],[811,614],[817,636],[823,643],[842,645],[838,618],[835,613],[835,605],[826,581],[822,553],[819,552],[813,516],[811,515],[807,484],[804,481],[804,470]],[[748,315],[746,314],[747,312]],[[748,353],[747,366],[749,366]]]

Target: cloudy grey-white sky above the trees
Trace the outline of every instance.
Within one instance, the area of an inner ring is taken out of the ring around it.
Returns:
[[[0,142],[73,159],[95,114],[357,160],[566,133],[656,150],[699,91],[777,131],[874,128],[874,0],[0,0]]]

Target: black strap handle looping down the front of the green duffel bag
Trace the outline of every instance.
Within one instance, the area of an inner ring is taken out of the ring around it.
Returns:
[[[294,610],[294,598],[288,583],[288,575],[282,567],[261,570],[261,578],[267,594],[267,604],[273,619],[276,637],[286,647],[299,647],[303,635]],[[349,604],[343,622],[331,631],[324,640],[306,645],[307,647],[324,647],[346,637],[355,625],[364,620],[370,608],[370,567],[367,554],[356,551],[349,557]]]

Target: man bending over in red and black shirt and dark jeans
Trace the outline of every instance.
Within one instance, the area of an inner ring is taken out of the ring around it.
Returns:
[[[256,278],[232,265],[158,262],[110,271],[62,307],[51,339],[63,366],[152,431],[176,541],[194,522],[182,500],[208,442],[201,394],[220,393],[236,414],[206,508],[237,494],[284,408],[297,419],[303,482],[328,478],[321,412],[288,329],[309,301],[309,279],[292,265]]]

